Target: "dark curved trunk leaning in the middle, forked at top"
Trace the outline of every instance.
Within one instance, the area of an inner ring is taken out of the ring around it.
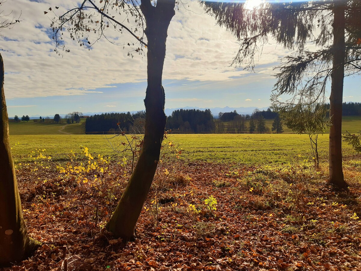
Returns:
[[[148,86],[144,99],[146,112],[144,144],[128,185],[106,225],[109,231],[123,240],[129,240],[134,235],[136,221],[152,185],[159,161],[166,124],[162,73],[167,31],[175,14],[174,7],[174,0],[158,0],[156,7],[151,4],[150,0],[142,0],[140,5],[147,23],[145,34],[148,39]]]

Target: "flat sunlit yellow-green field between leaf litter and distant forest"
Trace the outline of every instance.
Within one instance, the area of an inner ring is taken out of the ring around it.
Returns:
[[[122,138],[113,142],[120,143]],[[123,138],[124,139],[124,138]],[[297,155],[310,156],[307,135],[298,134],[177,134],[170,135],[167,142],[182,143],[182,159],[217,163],[240,163],[248,165],[290,163]],[[53,160],[65,160],[71,150],[79,152],[79,145],[89,148],[92,155],[115,157],[105,136],[102,135],[28,135],[10,136],[16,160],[26,159],[35,148],[46,149],[45,154]],[[321,163],[328,162],[328,135],[319,135]],[[179,148],[180,148],[179,147]],[[344,156],[355,155],[344,144]]]

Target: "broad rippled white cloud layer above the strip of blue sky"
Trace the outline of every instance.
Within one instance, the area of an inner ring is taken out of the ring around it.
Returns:
[[[11,16],[21,12],[21,22],[11,30],[4,30],[0,38],[5,64],[6,98],[24,98],[56,95],[86,95],[103,93],[100,88],[112,88],[120,83],[144,82],[147,78],[146,57],[127,56],[127,47],[114,46],[106,39],[100,39],[88,51],[64,33],[64,40],[70,53],[57,56],[55,44],[49,35],[52,12],[44,15],[49,7],[60,5],[56,15],[73,7],[73,0],[44,0],[41,3],[30,0],[11,0],[3,4],[4,10],[13,10]],[[190,81],[230,81],[244,77],[249,71],[230,67],[230,62],[239,48],[234,36],[216,25],[215,20],[205,14],[196,1],[189,3],[189,10],[182,6],[170,23],[167,52],[164,65],[164,79],[188,79]],[[109,29],[109,39],[119,38],[127,43],[130,34],[118,37]],[[90,40],[96,36],[90,34]],[[145,53],[146,50],[145,49]],[[278,57],[285,55],[282,46],[268,44],[257,65],[271,65]],[[272,67],[258,70],[263,77],[273,74]],[[129,95],[124,91],[125,95]],[[144,96],[144,91],[142,94]]]

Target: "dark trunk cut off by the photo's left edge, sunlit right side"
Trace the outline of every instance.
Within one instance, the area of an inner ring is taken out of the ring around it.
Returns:
[[[0,267],[20,261],[30,250],[10,151],[4,95],[4,63],[0,54]]]

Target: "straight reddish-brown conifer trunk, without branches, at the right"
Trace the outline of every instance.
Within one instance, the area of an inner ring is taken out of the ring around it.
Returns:
[[[339,189],[347,188],[342,172],[342,96],[345,63],[345,1],[335,1],[333,66],[330,95],[330,177],[329,183]]]

